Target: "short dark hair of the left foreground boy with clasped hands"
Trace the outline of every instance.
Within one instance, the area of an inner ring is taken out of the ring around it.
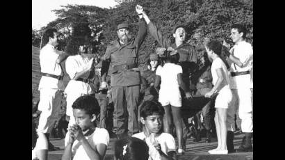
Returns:
[[[100,113],[100,106],[95,97],[92,95],[83,95],[75,100],[72,104],[72,109],[80,109],[86,111],[88,115],[98,115]]]

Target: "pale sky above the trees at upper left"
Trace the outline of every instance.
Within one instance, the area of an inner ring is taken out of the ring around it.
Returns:
[[[67,4],[78,4],[88,6],[98,6],[101,8],[114,7],[115,0],[32,0],[32,27],[40,29],[49,22],[56,19],[56,15],[51,10],[60,9],[60,6]]]

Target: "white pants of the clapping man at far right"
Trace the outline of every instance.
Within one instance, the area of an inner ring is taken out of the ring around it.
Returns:
[[[234,115],[238,110],[241,118],[241,131],[253,132],[252,122],[252,91],[250,88],[231,89],[233,98],[227,110],[227,130],[235,131]]]

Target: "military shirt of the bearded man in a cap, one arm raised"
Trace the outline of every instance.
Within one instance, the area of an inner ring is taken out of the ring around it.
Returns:
[[[111,86],[135,86],[140,85],[140,72],[132,69],[118,69],[124,65],[138,67],[138,51],[147,35],[147,25],[140,20],[136,38],[127,44],[120,45],[120,40],[114,40],[108,45],[103,56],[103,61],[111,63]],[[101,75],[108,74],[108,63],[102,63]]]

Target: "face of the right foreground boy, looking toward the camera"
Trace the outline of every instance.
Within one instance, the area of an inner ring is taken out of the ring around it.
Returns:
[[[149,130],[149,134],[157,134],[161,131],[163,124],[163,116],[158,115],[157,113],[147,116],[147,118],[140,119],[142,124]]]

